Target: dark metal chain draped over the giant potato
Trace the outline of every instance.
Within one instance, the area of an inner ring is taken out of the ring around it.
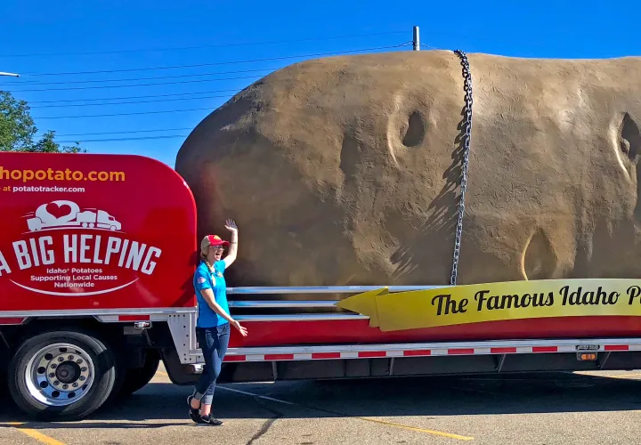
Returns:
[[[461,60],[461,66],[463,67],[463,79],[465,84],[463,89],[465,90],[465,117],[466,117],[466,126],[465,126],[465,135],[463,140],[463,174],[461,177],[461,195],[460,200],[458,201],[458,222],[457,222],[457,231],[456,238],[454,239],[454,261],[452,263],[452,271],[450,276],[450,285],[456,285],[457,275],[458,275],[458,255],[460,253],[460,242],[461,236],[463,235],[463,214],[465,213],[465,192],[467,190],[467,164],[469,159],[469,143],[470,143],[470,134],[472,134],[472,75],[470,73],[469,61],[467,61],[467,55],[461,50],[456,50],[454,53],[458,55]]]

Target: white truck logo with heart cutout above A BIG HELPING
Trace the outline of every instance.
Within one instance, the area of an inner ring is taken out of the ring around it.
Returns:
[[[104,210],[85,208],[80,210],[73,201],[56,200],[39,206],[35,213],[28,213],[29,231],[51,231],[73,227],[120,231],[122,224]]]

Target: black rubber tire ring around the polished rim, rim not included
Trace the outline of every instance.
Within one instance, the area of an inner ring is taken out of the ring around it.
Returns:
[[[27,384],[29,360],[43,348],[58,343],[82,349],[94,369],[93,383],[84,396],[66,406],[53,406],[38,401],[29,392]],[[100,409],[107,401],[116,382],[116,371],[113,352],[96,336],[71,330],[44,332],[28,338],[13,355],[9,363],[9,391],[18,407],[29,417],[41,420],[80,420]]]

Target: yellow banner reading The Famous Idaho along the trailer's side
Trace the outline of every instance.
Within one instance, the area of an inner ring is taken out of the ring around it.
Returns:
[[[369,317],[381,331],[546,317],[641,316],[640,279],[508,281],[353,295],[337,307]]]

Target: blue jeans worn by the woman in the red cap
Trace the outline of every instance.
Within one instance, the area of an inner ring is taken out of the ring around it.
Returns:
[[[211,405],[214,400],[216,379],[223,366],[230,337],[230,324],[215,328],[196,328],[196,338],[205,358],[205,368],[194,388],[193,397],[200,403]]]

